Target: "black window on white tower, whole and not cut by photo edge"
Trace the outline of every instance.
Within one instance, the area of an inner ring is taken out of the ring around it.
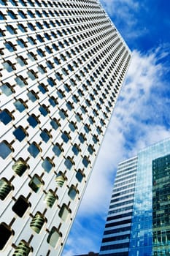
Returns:
[[[28,202],[26,197],[20,195],[18,200],[16,200],[15,204],[12,206],[12,211],[14,211],[15,214],[17,214],[20,218],[22,218],[30,206],[31,203]]]

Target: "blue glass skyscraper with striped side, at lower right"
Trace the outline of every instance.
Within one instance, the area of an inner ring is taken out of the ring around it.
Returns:
[[[170,254],[170,139],[117,167],[99,255]]]

